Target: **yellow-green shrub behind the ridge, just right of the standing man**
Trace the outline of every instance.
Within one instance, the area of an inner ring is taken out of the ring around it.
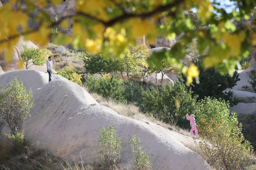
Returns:
[[[65,77],[70,81],[73,81],[79,86],[82,86],[81,76],[75,72],[73,67],[68,66],[65,69],[62,69],[61,71],[58,71],[58,74],[60,74],[61,76]]]

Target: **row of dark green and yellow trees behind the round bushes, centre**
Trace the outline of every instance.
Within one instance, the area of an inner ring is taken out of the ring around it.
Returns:
[[[99,73],[101,76],[105,73],[122,73],[125,71],[127,77],[129,73],[134,76],[138,76],[145,79],[146,73],[145,68],[148,67],[147,58],[150,55],[150,51],[144,44],[140,46],[130,46],[125,52],[124,59],[118,60],[115,57],[104,58],[102,53],[85,53],[84,68],[90,73]]]

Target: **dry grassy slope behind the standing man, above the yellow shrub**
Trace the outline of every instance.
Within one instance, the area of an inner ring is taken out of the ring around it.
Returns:
[[[72,67],[74,67],[74,70],[77,72],[84,71],[84,62],[83,62],[83,52],[76,51],[69,49],[68,47],[65,48],[65,52],[61,54],[56,50],[56,48],[59,47],[53,43],[47,44],[47,49],[52,52],[54,64],[53,69],[56,71],[61,71],[65,68],[65,66],[68,66],[68,63],[66,62],[66,59],[72,60]]]

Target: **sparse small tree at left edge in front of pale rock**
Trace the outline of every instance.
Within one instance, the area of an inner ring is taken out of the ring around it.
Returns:
[[[0,90],[0,122],[11,130],[7,137],[14,141],[16,136],[20,140],[24,137],[22,123],[30,117],[29,110],[34,106],[32,97],[32,90],[29,89],[27,93],[23,83],[17,78]]]

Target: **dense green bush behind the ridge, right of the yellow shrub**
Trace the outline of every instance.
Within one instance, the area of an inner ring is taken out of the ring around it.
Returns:
[[[127,100],[123,96],[125,88],[121,85],[122,80],[115,75],[110,77],[104,76],[96,78],[89,76],[85,82],[85,87],[89,89],[89,92],[97,93],[106,99],[113,99],[116,102],[127,103]]]

